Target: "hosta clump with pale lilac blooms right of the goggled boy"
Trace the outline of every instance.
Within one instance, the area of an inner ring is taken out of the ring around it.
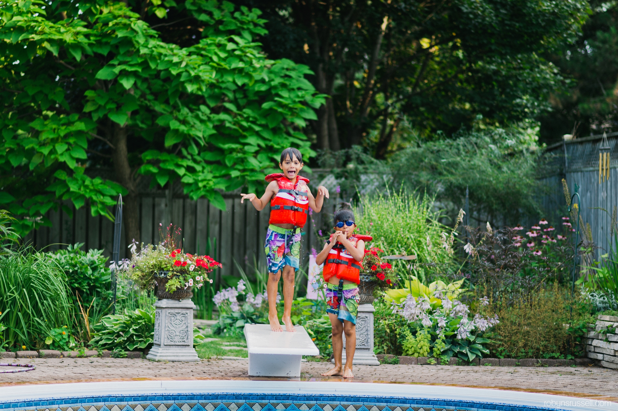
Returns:
[[[499,322],[497,315],[484,318],[476,314],[471,319],[468,306],[459,300],[449,299],[442,291],[432,297],[440,304],[431,302],[428,296],[417,298],[412,294],[403,302],[391,302],[393,312],[406,318],[410,326],[404,330],[404,355],[433,357],[442,363],[448,363],[451,357],[472,361],[488,355],[484,344],[491,340],[483,334]],[[485,297],[481,299],[481,304],[486,302]]]

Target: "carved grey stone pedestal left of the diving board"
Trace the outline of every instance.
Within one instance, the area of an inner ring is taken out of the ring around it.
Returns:
[[[160,299],[155,302],[154,345],[146,355],[155,361],[199,361],[193,349],[191,300]]]

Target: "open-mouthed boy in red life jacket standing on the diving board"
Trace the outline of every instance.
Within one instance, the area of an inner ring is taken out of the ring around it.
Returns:
[[[307,222],[309,207],[316,213],[322,209],[324,196],[328,189],[318,187],[318,195],[313,197],[307,186],[309,180],[298,175],[303,168],[303,157],[298,149],[289,147],[281,152],[279,168],[282,173],[267,175],[269,182],[261,198],[255,194],[240,194],[242,199],[251,201],[260,211],[271,204],[271,215],[266,232],[266,260],[268,261],[268,321],[273,331],[283,331],[277,317],[277,288],[283,273],[283,317],[286,331],[296,331],[292,325],[292,298],[294,296],[294,273],[298,270],[300,257],[300,229]]]

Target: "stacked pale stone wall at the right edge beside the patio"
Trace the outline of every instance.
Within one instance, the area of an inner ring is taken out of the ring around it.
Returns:
[[[595,325],[590,325],[586,355],[596,365],[618,370],[618,317],[599,315]]]

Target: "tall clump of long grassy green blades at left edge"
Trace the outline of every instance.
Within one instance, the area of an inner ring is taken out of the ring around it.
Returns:
[[[74,318],[66,275],[47,255],[0,257],[0,321],[9,347],[44,348],[49,331]]]

